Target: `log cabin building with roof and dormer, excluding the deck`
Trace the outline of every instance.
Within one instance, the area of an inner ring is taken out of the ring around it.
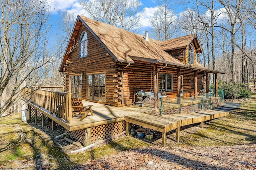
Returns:
[[[216,82],[222,73],[199,64],[201,52],[196,34],[156,41],[147,31],[142,36],[78,15],[59,71],[65,92],[116,107],[132,105],[140,89],[196,98],[200,90],[208,92],[209,73]]]

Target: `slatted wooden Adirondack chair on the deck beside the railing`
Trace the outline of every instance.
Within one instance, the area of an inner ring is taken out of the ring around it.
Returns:
[[[89,113],[91,113],[91,115],[93,116],[92,108],[91,108],[93,105],[83,106],[82,100],[75,97],[71,98],[71,103],[72,103],[72,117],[74,116],[81,117],[80,121],[82,121]]]

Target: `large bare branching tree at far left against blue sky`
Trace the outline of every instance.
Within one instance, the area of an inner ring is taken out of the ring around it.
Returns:
[[[48,9],[44,1],[0,4],[0,116],[18,109],[20,92],[40,84],[42,72],[47,71]]]

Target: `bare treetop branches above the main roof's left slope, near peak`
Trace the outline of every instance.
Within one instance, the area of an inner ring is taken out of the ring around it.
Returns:
[[[126,30],[140,27],[143,12],[139,12],[138,0],[80,0],[80,3],[94,20]]]

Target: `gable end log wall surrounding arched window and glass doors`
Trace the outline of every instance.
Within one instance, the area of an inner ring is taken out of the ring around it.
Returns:
[[[113,97],[116,94],[116,88],[113,84],[117,84],[117,82],[113,82],[113,74],[115,74],[113,69],[116,63],[113,62],[112,56],[106,55],[108,53],[106,49],[84,25],[80,26],[75,39],[76,42],[79,42],[83,31],[86,31],[88,36],[88,55],[87,57],[79,58],[79,46],[70,53],[65,68],[66,92],[70,92],[70,76],[82,74],[82,98],[86,99],[86,74],[104,72],[106,74],[106,101],[103,103],[121,106],[121,100],[116,100]]]

